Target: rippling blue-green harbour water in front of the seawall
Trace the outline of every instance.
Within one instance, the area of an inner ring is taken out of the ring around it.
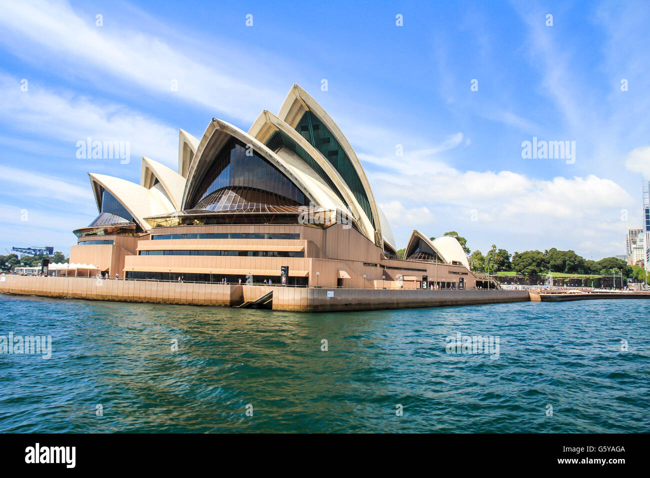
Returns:
[[[0,336],[52,352],[0,354],[0,432],[650,432],[648,317],[648,300],[285,313],[1,295]],[[458,333],[498,354],[456,353]]]

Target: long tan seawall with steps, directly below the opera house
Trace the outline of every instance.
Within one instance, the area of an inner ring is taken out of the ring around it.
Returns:
[[[0,292],[17,295],[197,306],[240,306],[271,291],[273,310],[292,312],[458,306],[530,300],[528,291],[326,289],[13,275],[0,278]]]

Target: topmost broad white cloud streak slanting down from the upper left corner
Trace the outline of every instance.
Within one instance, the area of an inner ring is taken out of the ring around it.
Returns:
[[[55,57],[62,64],[70,60],[82,64],[83,68],[73,69],[75,75],[94,78],[98,71],[107,73],[235,118],[250,120],[259,114],[261,105],[279,105],[283,100],[263,84],[268,74],[246,53],[234,61],[225,45],[209,43],[187,51],[143,31],[97,27],[94,15],[82,18],[67,2],[3,3],[0,28],[0,42],[5,38],[6,46],[25,59],[29,59],[25,50],[31,42],[36,46],[31,52],[34,56],[45,53],[47,60]],[[9,32],[26,41],[11,41]],[[229,58],[217,63],[212,56],[211,63],[203,62],[206,48],[222,50],[218,56]],[[174,80],[177,91],[172,91]]]

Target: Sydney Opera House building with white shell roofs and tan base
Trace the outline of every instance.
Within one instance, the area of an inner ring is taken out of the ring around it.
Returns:
[[[140,184],[90,174],[99,215],[70,261],[114,278],[473,289],[458,241],[413,231],[404,259],[350,143],[294,85],[248,133],[181,130],[178,172],[142,158]]]

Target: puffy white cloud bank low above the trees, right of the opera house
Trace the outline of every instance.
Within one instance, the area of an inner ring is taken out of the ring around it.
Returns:
[[[621,209],[634,206],[630,195],[594,175],[545,180],[512,171],[447,168],[436,175],[373,178],[377,200],[397,230],[398,247],[406,241],[398,230],[403,226],[430,235],[457,230],[471,248],[482,250],[497,242],[512,250],[558,247],[586,254],[577,245],[590,237],[601,245],[592,252],[611,255],[622,252],[612,246],[612,237],[623,237],[633,222],[631,215],[629,222],[621,220]]]

